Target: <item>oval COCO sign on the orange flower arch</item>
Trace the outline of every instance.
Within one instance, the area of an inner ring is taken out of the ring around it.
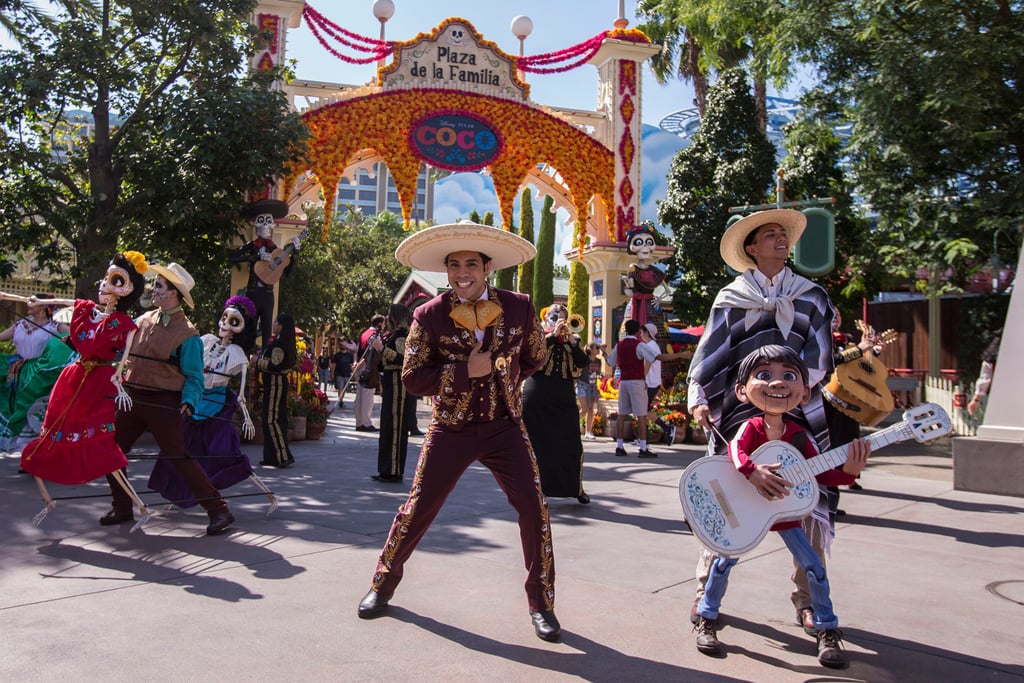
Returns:
[[[416,122],[409,132],[417,155],[437,168],[475,171],[501,151],[501,138],[489,125],[467,114],[435,114]]]

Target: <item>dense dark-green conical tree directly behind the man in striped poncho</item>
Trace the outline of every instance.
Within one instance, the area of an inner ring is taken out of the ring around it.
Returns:
[[[775,148],[758,130],[754,98],[739,70],[724,72],[708,94],[708,114],[692,144],[672,162],[658,221],[677,248],[669,276],[676,285],[673,310],[687,323],[703,322],[718,291],[729,282],[719,242],[729,207],[761,204],[775,170]]]

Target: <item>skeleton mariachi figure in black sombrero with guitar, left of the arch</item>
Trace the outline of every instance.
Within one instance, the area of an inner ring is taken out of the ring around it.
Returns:
[[[244,244],[230,257],[231,263],[249,264],[249,282],[246,283],[246,296],[256,304],[261,336],[260,343],[263,346],[266,346],[267,341],[270,339],[270,328],[273,325],[273,286],[281,276],[289,274],[295,267],[296,257],[299,255],[299,238],[292,238],[290,260],[276,278],[266,278],[269,282],[264,282],[258,274],[256,264],[274,259],[274,252],[279,251],[278,245],[270,239],[273,233],[273,226],[275,225],[274,221],[287,215],[288,204],[281,200],[259,200],[247,204],[242,210],[242,216],[253,221],[253,231],[256,238]]]

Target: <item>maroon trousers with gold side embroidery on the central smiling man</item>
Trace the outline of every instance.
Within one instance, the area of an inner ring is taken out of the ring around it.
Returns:
[[[529,608],[553,609],[555,558],[548,503],[541,493],[541,475],[526,430],[507,418],[470,423],[461,431],[430,425],[409,499],[398,508],[377,561],[373,589],[388,597],[394,593],[406,560],[440,512],[462,473],[477,461],[490,470],[519,514]]]

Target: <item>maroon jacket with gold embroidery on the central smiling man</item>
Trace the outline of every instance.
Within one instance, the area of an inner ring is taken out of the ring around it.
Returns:
[[[506,411],[518,424],[522,382],[544,365],[544,333],[529,297],[488,285],[487,298],[502,306],[498,319],[483,332],[481,348],[492,354],[487,378],[470,380],[468,358],[476,334],[450,317],[458,295],[439,294],[413,314],[401,379],[410,393],[434,397],[433,419],[443,427],[459,429],[471,418],[494,419]],[[473,396],[482,400],[471,410]]]

